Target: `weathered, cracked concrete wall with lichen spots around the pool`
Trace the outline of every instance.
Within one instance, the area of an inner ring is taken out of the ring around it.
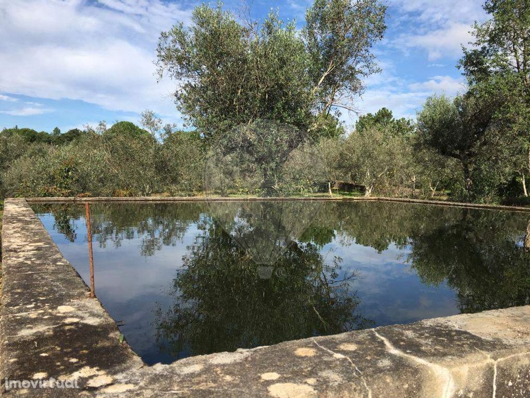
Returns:
[[[123,341],[116,321],[100,301],[89,297],[89,288],[28,204],[39,201],[191,202],[197,198],[5,200],[0,382],[7,396],[530,396],[528,305],[148,366]]]

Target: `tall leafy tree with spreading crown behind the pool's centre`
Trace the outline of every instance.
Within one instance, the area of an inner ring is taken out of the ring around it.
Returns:
[[[264,193],[277,191],[288,154],[337,135],[330,111],[378,71],[370,47],[382,38],[384,13],[375,0],[319,0],[301,35],[275,13],[243,26],[221,4],[201,5],[189,28],[161,33],[158,71],[180,82],[175,102],[188,123],[244,174],[255,166]]]

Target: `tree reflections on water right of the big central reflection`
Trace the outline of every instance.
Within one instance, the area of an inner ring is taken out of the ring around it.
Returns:
[[[342,244],[410,251],[408,263],[422,282],[446,282],[461,312],[530,304],[528,213],[388,202],[326,206],[313,223],[321,236],[334,229]]]

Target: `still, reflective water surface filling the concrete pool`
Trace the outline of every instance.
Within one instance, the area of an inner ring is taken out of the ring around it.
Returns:
[[[84,207],[33,209],[88,283]],[[96,295],[148,364],[530,304],[528,213],[340,201],[91,212]]]

